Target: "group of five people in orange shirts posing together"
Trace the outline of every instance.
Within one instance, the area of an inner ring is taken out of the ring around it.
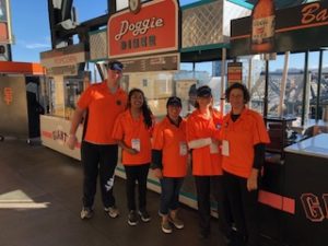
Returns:
[[[226,243],[238,237],[247,246],[258,246],[258,187],[269,137],[261,116],[246,106],[250,97],[247,89],[235,83],[226,90],[232,109],[224,117],[212,107],[212,92],[207,85],[197,89],[196,109],[186,119],[180,117],[180,98],[172,96],[166,103],[166,117],[155,122],[141,90],[132,89],[127,95],[119,87],[122,69],[119,61],[110,62],[108,79],[86,89],[72,118],[70,149],[75,147],[77,128],[87,114],[81,145],[84,171],[81,219],[93,215],[98,174],[104,210],[110,218],[119,215],[113,188],[120,147],[127,177],[128,224],[151,220],[147,210],[147,178],[151,168],[161,184],[162,231],[172,233],[173,227],[183,229],[178,198],[191,153],[200,237],[211,233],[212,195]]]

